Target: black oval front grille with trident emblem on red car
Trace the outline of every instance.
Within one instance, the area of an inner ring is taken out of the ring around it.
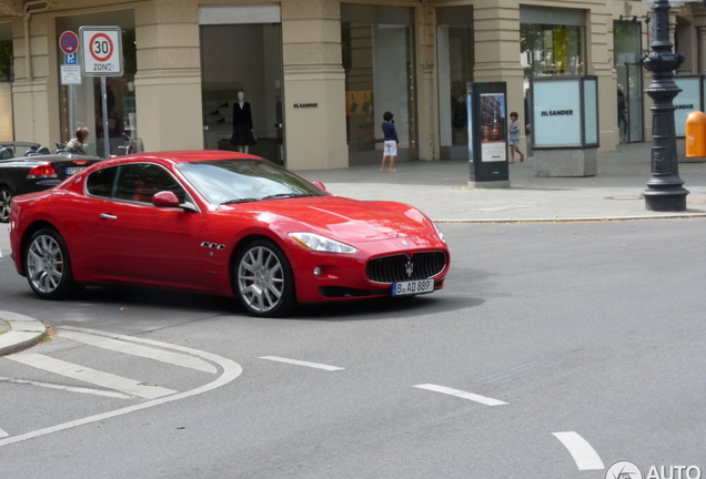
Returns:
[[[367,279],[374,283],[426,279],[436,276],[446,267],[444,252],[400,254],[371,259],[367,263]]]

